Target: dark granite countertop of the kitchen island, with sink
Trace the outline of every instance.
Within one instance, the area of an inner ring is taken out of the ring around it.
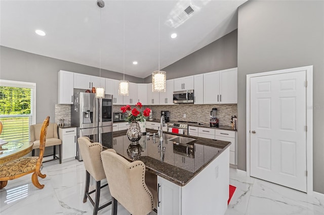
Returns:
[[[142,160],[145,164],[147,171],[179,186],[186,185],[231,144],[227,141],[164,132],[165,142],[163,146],[166,147],[166,152],[165,159],[162,162],[157,147],[157,131],[151,129],[146,129],[146,131],[150,133],[150,138],[146,140],[144,135],[140,139],[139,144],[142,147],[142,152],[139,160]],[[104,148],[112,147],[118,154],[132,161],[133,159],[129,158],[127,153],[131,145],[126,132],[127,130],[113,132],[113,138],[116,141],[112,146],[104,146]],[[153,142],[153,133],[156,133],[156,143]],[[169,140],[178,136],[189,137],[194,140],[188,144],[174,144],[173,141]]]

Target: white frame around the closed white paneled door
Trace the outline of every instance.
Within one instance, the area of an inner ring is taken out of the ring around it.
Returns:
[[[250,79],[258,76],[276,75],[291,72],[306,71],[306,168],[307,168],[307,194],[313,193],[313,66],[297,67],[284,70],[276,70],[270,72],[262,72],[247,75],[247,110],[246,110],[246,147],[247,147],[247,176],[250,176]]]

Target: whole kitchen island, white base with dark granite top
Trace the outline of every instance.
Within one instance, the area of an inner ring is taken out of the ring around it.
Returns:
[[[126,131],[117,131],[112,145],[104,147],[130,161],[137,156],[157,176],[157,214],[224,214],[230,142],[165,132],[165,153],[161,153],[158,135],[153,136],[157,131],[146,131],[150,136],[142,136],[137,146],[130,145]]]

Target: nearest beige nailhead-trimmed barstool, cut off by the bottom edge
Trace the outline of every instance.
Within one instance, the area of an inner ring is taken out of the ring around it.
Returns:
[[[151,212],[156,200],[145,183],[144,163],[130,163],[113,149],[102,151],[101,158],[112,196],[111,214],[117,214],[117,201],[133,215]]]

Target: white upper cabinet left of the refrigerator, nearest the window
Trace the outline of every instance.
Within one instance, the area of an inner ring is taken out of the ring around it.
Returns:
[[[58,72],[58,103],[73,104],[73,73],[60,70]]]

